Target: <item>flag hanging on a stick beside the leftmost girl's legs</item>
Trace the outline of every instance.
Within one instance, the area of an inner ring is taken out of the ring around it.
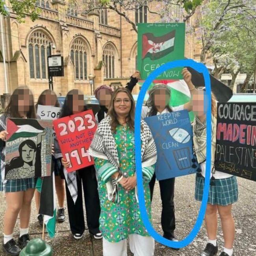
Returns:
[[[56,198],[54,173],[51,176],[38,178],[36,188],[40,193],[39,214],[44,216],[44,224],[49,236],[55,236]]]

